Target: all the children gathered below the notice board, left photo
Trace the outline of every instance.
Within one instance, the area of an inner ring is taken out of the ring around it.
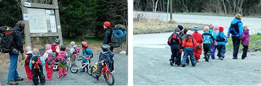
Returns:
[[[53,75],[53,68],[55,65],[55,62],[58,62],[59,64],[59,72],[58,72],[58,78],[65,78],[67,76],[67,60],[68,58],[71,58],[71,65],[75,64],[75,59],[79,54],[79,48],[77,45],[75,45],[75,42],[71,42],[71,49],[70,52],[68,53],[65,49],[65,45],[59,45],[60,44],[60,39],[55,39],[55,42],[50,45],[46,44],[46,51],[44,55],[41,57],[40,56],[40,51],[38,49],[33,49],[30,46],[27,46],[25,48],[26,53],[25,53],[25,70],[27,74],[27,80],[26,81],[33,81],[34,85],[38,85],[38,76],[40,78],[40,83],[41,85],[44,85],[46,82],[45,81],[50,81],[52,80],[52,75]],[[84,58],[86,56],[91,56],[90,58],[93,57],[93,51],[88,48],[88,43],[83,41],[81,42],[82,45],[82,56],[83,56],[83,62],[82,63],[87,63],[87,60]],[[104,46],[104,45],[103,45]],[[103,56],[106,56],[107,54],[112,54],[112,52],[109,52],[109,45],[107,46],[106,49],[102,48],[101,54],[99,55],[99,61],[103,62],[109,62],[109,58],[101,58]],[[47,72],[47,78],[45,78],[45,74],[43,71],[43,67],[45,66],[46,72]],[[98,65],[98,70],[101,70]],[[84,69],[82,69],[81,72],[84,72]],[[100,74],[99,74],[100,75]],[[98,82],[98,77],[95,79],[94,82]]]

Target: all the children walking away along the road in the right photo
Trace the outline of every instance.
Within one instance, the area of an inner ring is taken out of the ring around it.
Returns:
[[[198,26],[194,27],[194,33],[191,30],[183,29],[183,26],[179,25],[174,33],[168,39],[168,45],[171,46],[171,59],[170,65],[185,67],[186,63],[189,64],[188,56],[193,67],[199,62],[200,55],[202,54],[202,43],[204,49],[204,59],[206,62],[209,58],[215,59],[215,50],[218,50],[217,56],[219,60],[223,60],[225,57],[227,37],[223,33],[224,28],[220,27],[218,23],[214,25],[204,27],[204,33],[198,32]],[[242,59],[247,57],[247,47],[249,45],[249,33],[247,26],[243,27],[242,45],[244,46]],[[185,35],[184,35],[185,34]],[[184,52],[184,56],[181,61],[181,53]]]

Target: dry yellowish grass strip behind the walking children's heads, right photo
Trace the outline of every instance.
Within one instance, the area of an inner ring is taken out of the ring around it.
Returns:
[[[173,32],[174,29],[182,25],[183,28],[193,29],[195,25],[199,26],[200,29],[204,28],[207,24],[196,24],[196,23],[178,23],[175,20],[170,20],[168,26],[166,22],[158,19],[149,19],[144,21],[134,22],[134,34],[145,34],[145,33],[161,33],[161,32]]]

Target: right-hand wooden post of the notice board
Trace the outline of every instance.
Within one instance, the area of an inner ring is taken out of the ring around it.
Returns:
[[[53,4],[58,8],[58,1],[57,0],[53,0]],[[59,35],[59,39],[61,40],[60,45],[63,45],[63,37],[62,37],[62,30],[61,30],[61,23],[60,23],[60,16],[59,16],[59,10],[55,9],[54,11],[55,13],[55,21],[56,21],[56,29]]]

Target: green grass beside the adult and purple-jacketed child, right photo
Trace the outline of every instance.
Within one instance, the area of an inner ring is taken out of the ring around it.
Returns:
[[[261,42],[260,33],[250,35],[248,51],[255,51],[254,50],[255,48],[261,48],[260,42]],[[239,50],[242,49],[243,49],[243,45],[240,43]],[[233,50],[232,37],[228,38],[228,45],[226,46],[226,50]]]

